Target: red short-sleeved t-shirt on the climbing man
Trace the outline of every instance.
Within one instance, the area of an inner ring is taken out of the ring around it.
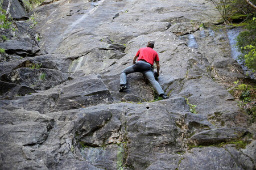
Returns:
[[[143,60],[151,65],[154,65],[155,61],[159,61],[158,53],[156,53],[156,51],[150,47],[139,49],[136,56],[139,56],[138,61]]]

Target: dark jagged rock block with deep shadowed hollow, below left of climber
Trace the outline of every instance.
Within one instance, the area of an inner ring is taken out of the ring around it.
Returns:
[[[76,140],[82,146],[104,146],[123,141],[120,112],[106,109],[81,112],[75,121]]]

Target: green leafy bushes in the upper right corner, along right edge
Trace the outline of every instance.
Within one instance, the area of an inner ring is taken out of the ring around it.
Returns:
[[[254,5],[256,0],[250,0]],[[222,16],[219,24],[245,26],[246,31],[237,37],[237,48],[242,53],[239,57],[251,71],[256,71],[256,10],[249,3],[241,0],[212,0]]]

